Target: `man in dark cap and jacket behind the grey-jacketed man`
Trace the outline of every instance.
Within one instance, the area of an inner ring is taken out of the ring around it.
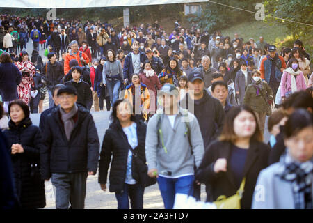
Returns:
[[[197,118],[205,150],[222,132],[225,112],[220,101],[204,89],[204,78],[200,70],[195,70],[188,75],[188,86],[188,93],[180,105],[186,106],[189,112],[193,112]],[[188,108],[188,105],[193,105],[193,111]],[[209,194],[208,188],[207,194]],[[200,200],[200,185],[195,185],[194,196]]]

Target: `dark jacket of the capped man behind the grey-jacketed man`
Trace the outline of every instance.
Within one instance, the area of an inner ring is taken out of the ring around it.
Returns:
[[[181,100],[180,106],[186,105],[186,109],[189,109],[188,105],[190,103],[194,106],[193,111],[191,109],[190,112],[193,112],[198,120],[204,141],[204,149],[207,150],[211,141],[217,139],[220,132],[222,132],[225,112],[219,100],[211,97],[206,90],[203,93],[203,98],[196,101],[192,100],[189,93],[187,93],[186,97]],[[212,128],[213,126],[214,128]]]

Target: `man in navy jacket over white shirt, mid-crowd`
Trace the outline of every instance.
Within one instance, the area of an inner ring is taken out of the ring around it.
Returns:
[[[143,66],[143,62],[147,59],[144,52],[139,51],[139,43],[138,41],[134,41],[131,45],[133,51],[131,51],[125,57],[123,74],[124,74],[124,84],[129,84],[129,77],[136,73],[138,74],[141,71],[141,67]]]

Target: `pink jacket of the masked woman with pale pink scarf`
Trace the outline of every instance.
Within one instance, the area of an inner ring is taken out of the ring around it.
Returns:
[[[297,91],[305,90],[307,86],[305,85],[305,78],[303,77],[303,72],[300,72],[300,75],[296,75],[295,77]],[[280,95],[284,97],[287,91],[291,91],[291,75],[288,72],[284,71],[281,79]]]

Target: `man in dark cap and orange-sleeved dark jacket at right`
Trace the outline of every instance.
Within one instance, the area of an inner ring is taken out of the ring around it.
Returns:
[[[265,80],[273,90],[273,98],[276,98],[282,72],[286,68],[286,62],[282,56],[278,56],[275,45],[268,45],[268,55],[262,59],[259,72],[262,80]]]

